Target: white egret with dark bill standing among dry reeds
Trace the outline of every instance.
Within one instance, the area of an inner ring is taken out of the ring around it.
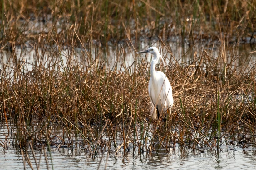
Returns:
[[[172,86],[163,72],[155,71],[156,64],[159,63],[160,65],[161,60],[164,63],[163,57],[156,47],[150,47],[138,53],[153,54],[150,67],[151,76],[148,85],[149,96],[154,106],[154,110],[151,112],[152,119],[158,120],[160,117],[169,117],[173,105]]]

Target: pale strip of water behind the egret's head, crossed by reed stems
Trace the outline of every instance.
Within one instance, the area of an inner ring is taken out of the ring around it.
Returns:
[[[165,64],[172,63],[192,63],[194,59],[202,56],[223,59],[223,49],[217,44],[196,44],[190,47],[188,44],[182,46],[179,41],[168,41],[165,45],[160,44],[159,39],[141,39],[136,50],[147,49],[150,46],[156,46],[160,49],[160,53],[165,59]],[[250,44],[229,45],[227,47],[226,62],[232,63],[231,67],[241,66],[243,69],[250,69],[256,62],[255,47]],[[96,41],[91,51],[84,48],[75,48],[63,46],[59,49],[57,46],[49,46],[46,48],[34,48],[31,43],[24,44],[21,48],[17,46],[12,50],[0,51],[0,69],[6,72],[6,75],[12,76],[14,68],[18,66],[22,73],[32,71],[35,66],[44,68],[54,68],[64,71],[71,65],[78,66],[82,70],[86,70],[88,62],[93,61],[97,57],[97,62],[103,63],[106,70],[113,70],[115,67],[118,71],[134,70],[136,64],[149,63],[151,55],[135,55],[135,50],[127,43],[119,43],[113,45],[108,44],[108,48],[99,48]],[[89,57],[88,57],[89,56]],[[148,65],[149,68],[149,65]]]

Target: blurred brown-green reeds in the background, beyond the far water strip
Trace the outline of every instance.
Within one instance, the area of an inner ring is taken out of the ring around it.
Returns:
[[[37,27],[38,34],[47,35],[50,31],[54,35],[67,29],[68,23],[71,28],[79,23],[77,34],[82,40],[90,37],[102,44],[126,39],[126,28],[134,28],[130,29],[133,37],[136,34],[138,37],[179,35],[182,40],[188,37],[219,40],[219,31],[222,31],[227,42],[255,43],[255,7],[254,0],[3,0],[0,3],[1,39],[11,41],[9,32],[5,31],[7,23],[14,39],[22,42],[33,40],[32,27]]]

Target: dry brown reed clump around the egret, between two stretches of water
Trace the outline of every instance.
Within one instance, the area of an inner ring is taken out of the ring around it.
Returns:
[[[164,43],[162,47],[167,46]],[[171,53],[169,50],[166,48],[165,52]],[[117,58],[122,58],[121,51]],[[180,62],[181,58],[165,59],[169,64],[163,71],[172,82],[175,104],[172,117],[158,122],[156,136],[162,138],[157,138],[160,143],[178,142],[197,149],[195,145],[213,147],[219,144],[215,139],[233,140],[239,134],[250,136],[245,143],[254,143],[255,62],[239,66],[241,55],[236,52],[224,57],[220,51],[217,58],[210,52],[204,50],[187,62]],[[134,53],[133,49],[130,53]],[[140,149],[145,147],[145,139],[152,138],[152,127],[157,123],[149,114],[150,64],[140,61],[126,69],[121,66],[120,70],[108,70],[102,54],[98,50],[95,58],[89,54],[83,58],[86,62],[76,62],[71,52],[66,64],[53,59],[54,50],[46,61],[36,54],[33,57],[39,62],[30,71],[17,67],[12,60],[4,64],[1,120],[10,131],[16,131],[15,145],[26,146],[28,141],[42,145],[47,140],[55,143],[54,125],[63,128],[58,137],[63,145],[68,136],[76,136],[74,141],[81,138],[81,145],[90,144],[93,150],[97,139],[108,136],[105,144],[111,141],[117,146],[116,142],[123,138]],[[11,57],[14,55],[12,52]],[[225,63],[224,58],[230,62]],[[117,65],[118,60],[114,66]],[[95,128],[103,129],[99,133]]]

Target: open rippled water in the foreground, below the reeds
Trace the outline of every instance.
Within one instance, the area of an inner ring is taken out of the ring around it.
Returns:
[[[58,131],[58,130],[56,130]],[[6,141],[7,127],[0,126],[0,140]],[[12,138],[9,136],[8,148],[0,147],[1,169],[23,169],[23,160],[20,149],[14,148]],[[54,169],[254,169],[256,166],[256,149],[222,145],[222,151],[217,153],[216,149],[200,148],[204,153],[188,149],[180,145],[170,148],[169,153],[165,151],[153,152],[151,154],[140,154],[138,149],[124,153],[121,149],[115,154],[115,147],[112,145],[110,151],[99,151],[99,154],[92,158],[86,149],[80,148],[59,148],[51,147],[52,163]],[[40,160],[40,169],[52,168],[50,153],[46,151],[47,163],[41,148],[35,148],[37,163]],[[32,151],[28,150],[28,158],[33,168],[36,168]],[[26,168],[30,168],[26,163]]]

